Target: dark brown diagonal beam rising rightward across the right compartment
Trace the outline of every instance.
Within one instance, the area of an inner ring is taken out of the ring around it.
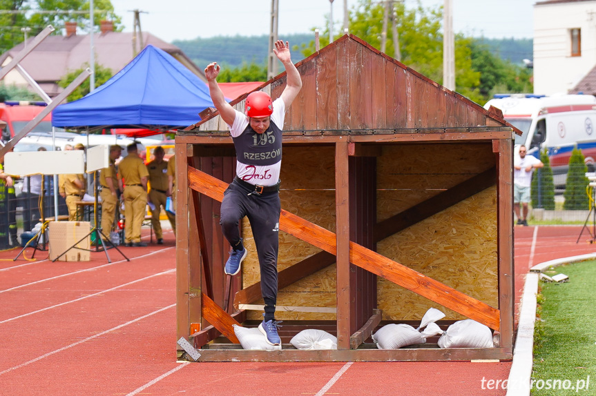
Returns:
[[[472,195],[482,190],[486,190],[486,188],[489,188],[496,182],[497,170],[495,168],[490,168],[479,175],[470,177],[470,179],[376,224],[374,228],[374,241],[382,241],[396,232],[405,230],[405,228],[419,223],[432,215],[436,215],[436,213],[463,201],[463,199],[472,197]]]

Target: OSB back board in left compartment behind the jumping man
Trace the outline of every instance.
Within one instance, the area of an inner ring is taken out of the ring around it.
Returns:
[[[280,175],[282,208],[335,232],[335,150],[330,147],[284,148]],[[242,222],[244,244],[249,255],[242,262],[243,287],[260,280],[256,248],[250,224]],[[280,232],[278,271],[320,252],[307,242]],[[335,265],[314,273],[278,292],[278,306],[336,306]],[[256,304],[262,304],[260,299]],[[260,311],[251,311],[247,319],[262,319]],[[334,314],[276,313],[278,320],[335,320]]]

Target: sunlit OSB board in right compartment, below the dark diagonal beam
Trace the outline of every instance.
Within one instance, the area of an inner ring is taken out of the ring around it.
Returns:
[[[498,306],[496,187],[383,239],[377,248],[398,263]],[[465,319],[381,277],[377,286],[384,320],[421,319],[430,307],[445,313],[445,319]]]

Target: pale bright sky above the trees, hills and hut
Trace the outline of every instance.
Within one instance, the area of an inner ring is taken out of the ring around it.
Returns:
[[[124,31],[133,31],[138,9],[143,31],[171,43],[197,37],[260,36],[269,34],[271,0],[111,0],[122,17]],[[416,0],[403,0],[408,8]],[[436,8],[444,0],[421,0],[423,6]],[[531,38],[533,5],[536,0],[452,0],[453,27],[468,36],[501,39]],[[334,30],[343,26],[343,0],[279,0],[278,36],[309,33],[325,28],[333,7]],[[348,0],[348,8],[358,0]],[[146,13],[144,13],[146,12]]]

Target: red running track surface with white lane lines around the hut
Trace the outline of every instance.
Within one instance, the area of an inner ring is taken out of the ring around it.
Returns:
[[[575,244],[580,230],[515,228],[518,301],[530,266],[595,251],[588,234]],[[0,253],[0,395],[506,393],[481,380],[506,379],[510,362],[177,363],[171,232],[165,241],[122,248],[130,262],[110,250],[111,264],[104,253],[73,263]]]

